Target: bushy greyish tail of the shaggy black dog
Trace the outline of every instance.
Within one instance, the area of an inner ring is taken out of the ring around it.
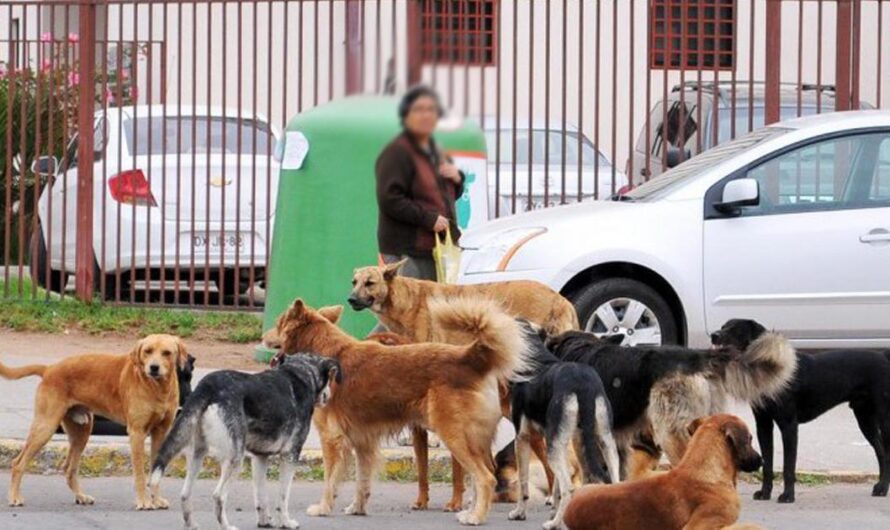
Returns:
[[[767,332],[728,358],[723,383],[736,399],[756,405],[784,390],[797,369],[797,353],[778,333]]]

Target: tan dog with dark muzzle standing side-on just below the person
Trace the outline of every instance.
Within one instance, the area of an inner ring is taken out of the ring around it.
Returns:
[[[544,333],[555,335],[578,329],[578,315],[575,307],[562,295],[546,285],[533,281],[512,281],[480,285],[447,285],[437,282],[417,280],[398,275],[404,260],[379,267],[356,269],[352,277],[352,292],[349,305],[356,311],[370,309],[380,322],[390,331],[399,333],[413,342],[441,342],[435,323],[430,317],[427,301],[436,297],[457,295],[482,297],[496,301],[508,315],[525,319],[543,329]],[[447,341],[446,341],[447,342]],[[509,404],[506,381],[502,381],[505,409]],[[509,414],[505,413],[509,418]],[[415,439],[417,431],[414,432]],[[422,443],[422,439],[421,439]],[[544,464],[548,478],[552,473],[547,465],[544,442],[540,436],[532,439],[538,458]],[[418,443],[415,442],[415,455]],[[421,471],[420,491],[415,509],[426,509],[429,502],[429,488]],[[457,511],[463,503],[464,474],[460,463],[452,459],[452,498],[445,505],[446,511]]]

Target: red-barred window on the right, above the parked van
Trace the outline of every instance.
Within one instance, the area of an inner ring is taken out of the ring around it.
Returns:
[[[650,0],[649,67],[735,68],[736,0]]]

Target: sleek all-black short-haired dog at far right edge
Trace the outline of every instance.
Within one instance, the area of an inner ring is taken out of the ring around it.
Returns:
[[[753,320],[730,320],[711,335],[721,347],[748,352],[785,341]],[[757,440],[763,451],[763,484],[754,493],[769,500],[773,489],[773,423],[782,433],[785,491],[779,502],[794,502],[797,468],[797,427],[829,409],[849,403],[859,429],[875,451],[880,476],[872,489],[875,497],[887,495],[890,484],[890,351],[835,350],[797,354],[797,372],[791,385],[772,399],[753,406]]]

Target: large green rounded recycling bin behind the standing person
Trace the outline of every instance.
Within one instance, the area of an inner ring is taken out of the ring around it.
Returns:
[[[297,297],[313,307],[345,304],[353,269],[378,263],[374,163],[401,130],[397,107],[395,97],[353,96],[315,107],[288,124],[279,146],[283,160],[264,330]],[[457,205],[460,226],[486,221],[482,130],[473,122],[446,118],[435,138],[467,176]],[[356,337],[375,324],[369,311],[346,310],[341,320],[343,329]],[[257,359],[268,355],[259,349]]]

